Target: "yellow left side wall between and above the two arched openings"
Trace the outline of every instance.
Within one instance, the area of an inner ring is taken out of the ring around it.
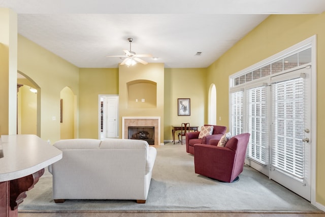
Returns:
[[[43,140],[60,139],[60,91],[69,86],[78,96],[79,69],[18,35],[18,71],[39,86],[38,130]]]

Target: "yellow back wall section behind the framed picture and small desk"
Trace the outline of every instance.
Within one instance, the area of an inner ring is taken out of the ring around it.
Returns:
[[[207,69],[165,69],[165,140],[172,140],[172,126],[189,122],[203,126],[207,120],[205,105],[208,88],[205,86]],[[178,116],[178,98],[190,99],[190,116]]]

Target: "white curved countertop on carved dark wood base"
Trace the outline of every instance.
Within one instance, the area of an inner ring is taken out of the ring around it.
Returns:
[[[36,135],[2,135],[0,182],[35,173],[62,158],[62,151]]]

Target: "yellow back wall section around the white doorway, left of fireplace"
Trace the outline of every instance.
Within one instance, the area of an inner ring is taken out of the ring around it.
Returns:
[[[118,95],[118,69],[80,69],[79,138],[98,139],[99,95]]]

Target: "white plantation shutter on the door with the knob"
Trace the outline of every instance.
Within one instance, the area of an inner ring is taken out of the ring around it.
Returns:
[[[277,170],[304,178],[304,79],[272,84],[272,159]]]

